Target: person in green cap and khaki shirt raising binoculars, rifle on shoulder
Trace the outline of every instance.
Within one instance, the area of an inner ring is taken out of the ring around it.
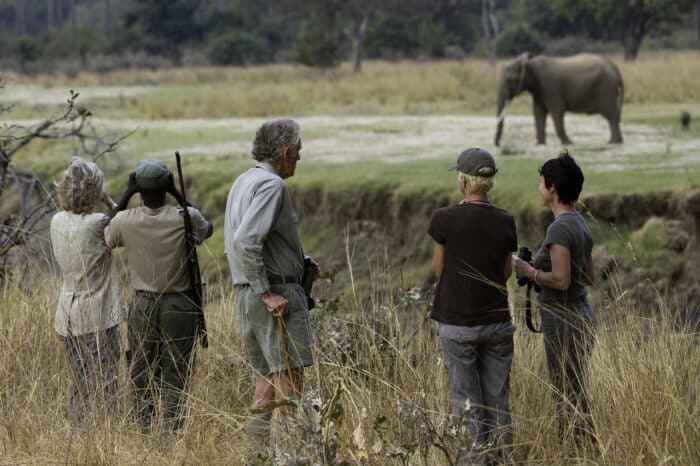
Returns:
[[[144,205],[124,210],[137,192]],[[105,240],[110,248],[126,248],[134,288],[127,333],[136,414],[150,426],[161,390],[163,427],[173,430],[182,423],[182,393],[192,369],[199,318],[185,262],[183,217],[180,209],[166,205],[167,193],[181,203],[166,164],[139,162],[105,228]],[[198,209],[188,211],[201,243],[211,236],[212,224]]]

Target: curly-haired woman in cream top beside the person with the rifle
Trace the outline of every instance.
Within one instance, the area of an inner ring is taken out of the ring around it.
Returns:
[[[51,243],[63,285],[54,328],[68,351],[72,386],[68,416],[79,423],[98,406],[115,401],[119,323],[124,320],[119,278],[104,239],[109,217],[93,212],[98,200],[116,205],[97,165],[73,157],[56,184],[59,211],[51,219]]]

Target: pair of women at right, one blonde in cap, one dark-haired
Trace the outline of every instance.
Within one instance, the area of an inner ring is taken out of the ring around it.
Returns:
[[[539,193],[554,221],[533,263],[513,255],[514,218],[488,197],[498,171],[491,154],[467,149],[452,169],[458,171],[464,198],[437,209],[428,234],[435,243],[433,272],[438,279],[431,317],[438,322],[452,414],[466,417],[472,442],[460,450],[458,463],[503,463],[511,455],[515,326],[506,282],[513,271],[540,290],[541,332],[559,438],[595,447],[583,384],[595,319],[586,292],[593,284],[593,240],[575,208],[584,181],[581,169],[568,152],[539,168]]]

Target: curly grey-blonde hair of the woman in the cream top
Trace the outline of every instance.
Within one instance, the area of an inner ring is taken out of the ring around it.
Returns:
[[[56,183],[58,206],[75,214],[88,213],[100,198],[103,185],[104,174],[97,165],[73,157]]]

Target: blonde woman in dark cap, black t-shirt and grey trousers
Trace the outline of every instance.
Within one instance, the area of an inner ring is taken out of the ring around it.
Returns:
[[[451,170],[457,170],[464,198],[437,209],[430,220],[438,279],[430,317],[438,322],[452,414],[468,415],[471,446],[459,451],[458,464],[505,462],[512,444],[508,397],[515,331],[506,281],[518,244],[515,219],[488,197],[498,171],[491,154],[467,149]]]

